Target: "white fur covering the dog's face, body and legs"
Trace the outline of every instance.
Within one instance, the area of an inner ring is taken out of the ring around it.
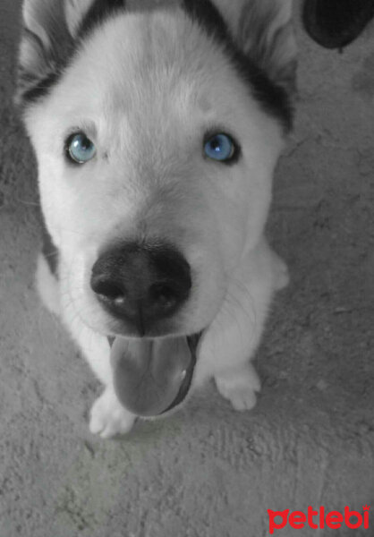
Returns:
[[[72,34],[89,4],[65,4]],[[270,33],[288,21],[276,13]],[[282,54],[285,61],[289,51]],[[221,49],[182,11],[119,15],[89,37],[25,121],[48,231],[60,251],[59,296],[42,260],[38,288],[51,311],[61,304],[65,326],[106,387],[90,430],[109,437],[130,430],[135,419],[115,396],[106,338],[124,328],[89,288],[98,252],[123,237],[161,236],[183,251],[193,291],[175,315],[173,334],[205,328],[193,384],[214,377],[234,408],[251,408],[259,379],[249,360],[272,296],[287,281],[285,264],[264,238],[284,134]],[[212,127],[240,140],[235,166],[201,157],[202,136]],[[98,148],[79,168],[66,165],[62,150],[74,128]]]

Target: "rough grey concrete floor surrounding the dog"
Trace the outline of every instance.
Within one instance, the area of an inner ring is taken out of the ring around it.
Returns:
[[[296,130],[271,242],[289,263],[251,413],[210,386],[126,439],[34,290],[35,161],[13,113],[19,0],[0,3],[0,537],[261,537],[267,509],[374,505],[374,28],[339,55],[299,30]],[[374,534],[339,531],[339,537]],[[285,529],[279,535],[329,535]],[[336,531],[332,531],[336,535]]]

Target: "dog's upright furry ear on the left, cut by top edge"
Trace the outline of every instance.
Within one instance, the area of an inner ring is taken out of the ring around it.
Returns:
[[[37,98],[70,57],[93,0],[25,0],[15,102]]]

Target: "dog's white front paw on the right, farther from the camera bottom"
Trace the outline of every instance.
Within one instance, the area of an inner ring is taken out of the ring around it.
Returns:
[[[221,396],[228,399],[235,410],[251,410],[256,405],[256,392],[261,384],[251,363],[219,373],[215,377]]]

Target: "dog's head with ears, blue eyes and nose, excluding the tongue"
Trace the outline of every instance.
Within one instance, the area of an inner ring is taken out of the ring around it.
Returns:
[[[51,4],[25,4],[19,100],[69,300],[105,335],[199,332],[266,222],[290,120],[289,5],[237,0],[226,29],[201,0]]]

